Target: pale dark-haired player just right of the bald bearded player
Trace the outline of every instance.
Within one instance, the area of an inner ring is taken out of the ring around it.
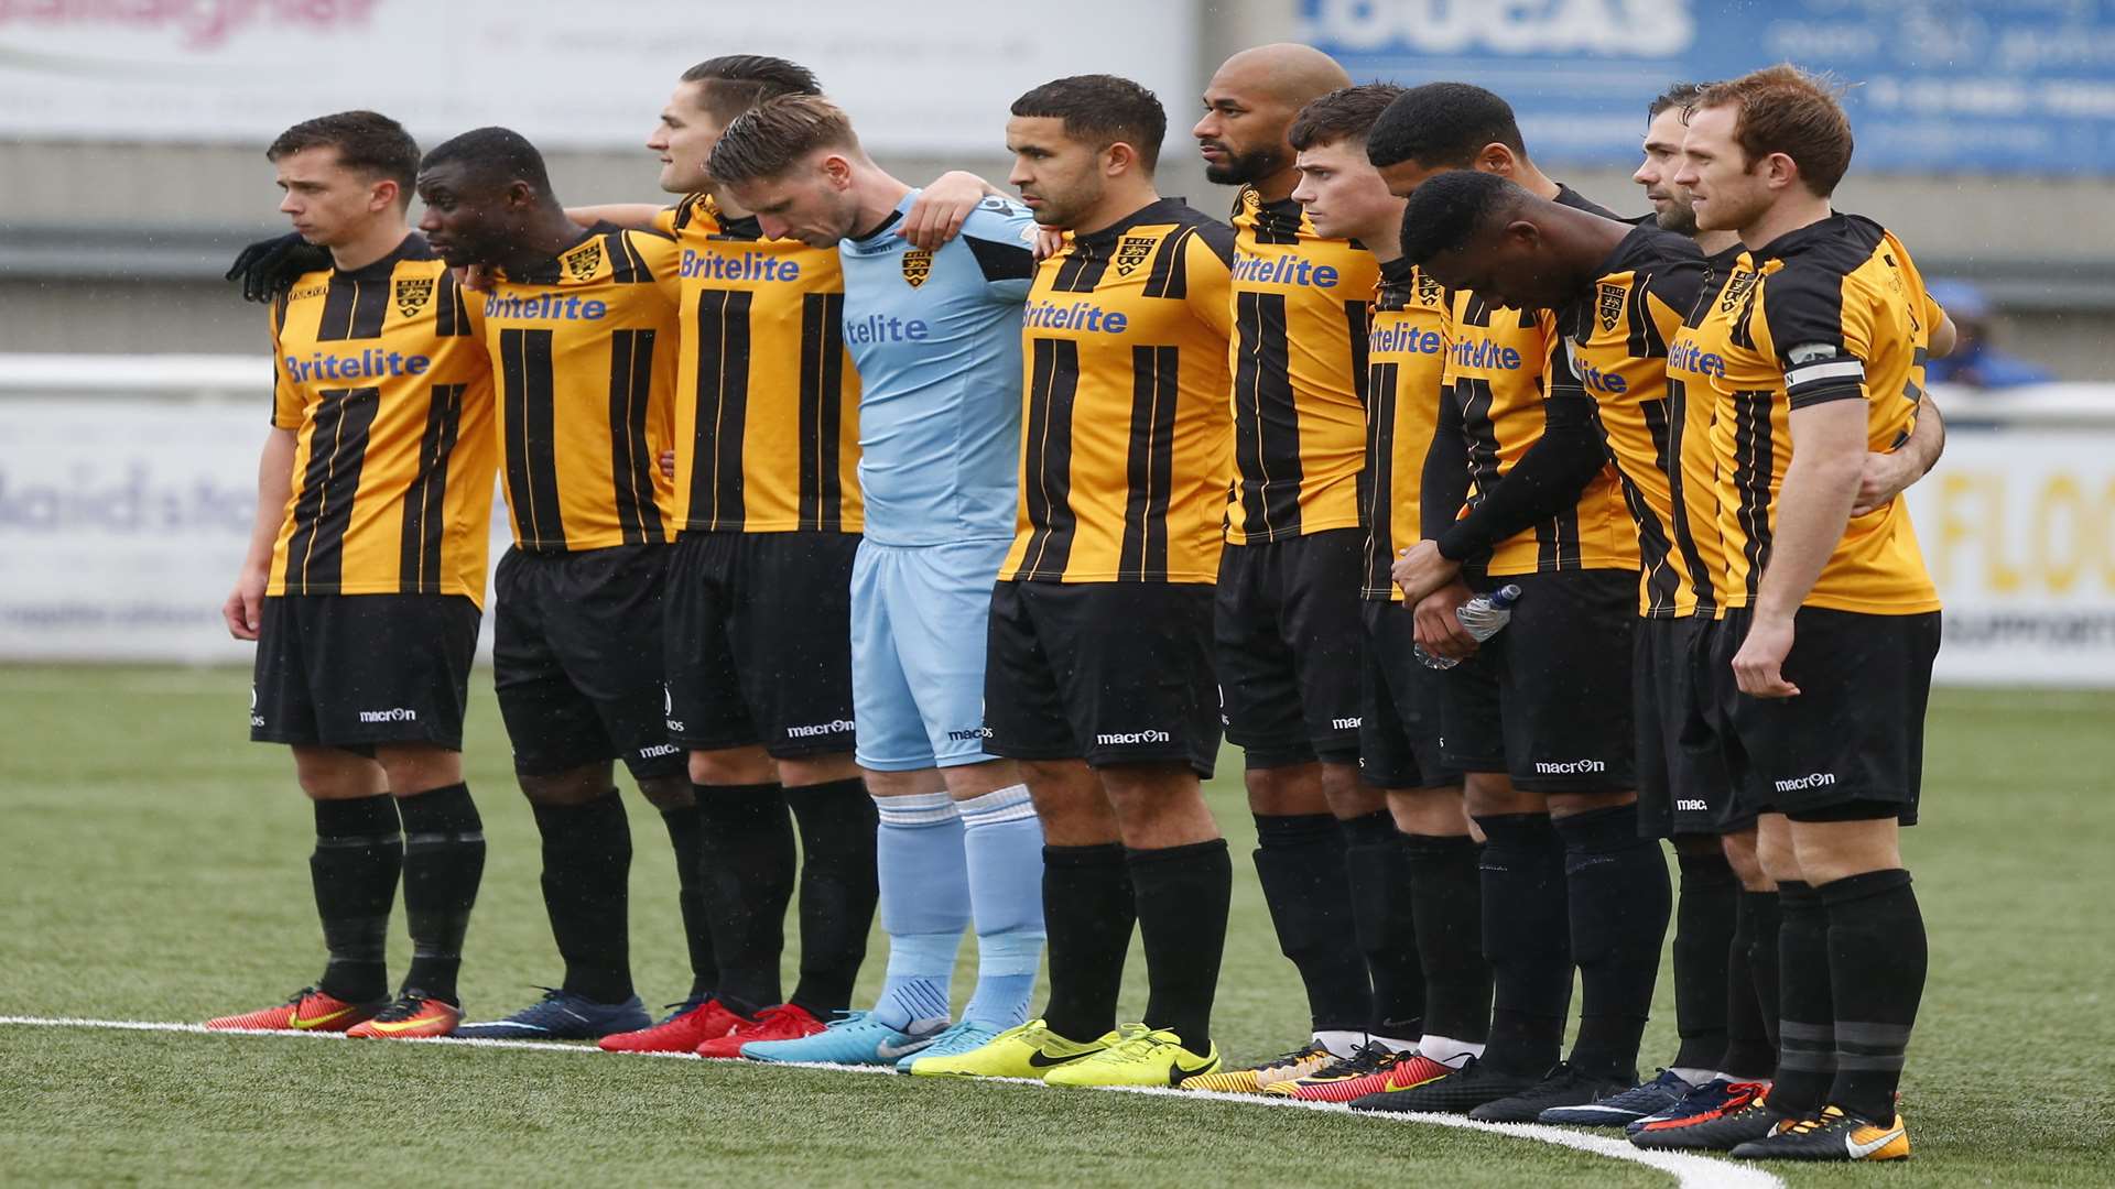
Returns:
[[[1476,944],[1476,840],[1461,776],[1440,753],[1440,677],[1413,658],[1415,622],[1390,580],[1396,552],[1419,539],[1419,468],[1436,432],[1447,313],[1445,290],[1400,256],[1404,201],[1366,159],[1366,133],[1400,93],[1387,83],[1332,91],[1307,104],[1288,131],[1301,169],[1292,197],[1307,220],[1322,235],[1364,243],[1381,267],[1360,474],[1360,776],[1385,791],[1390,815],[1347,848],[1373,1026],[1351,1058],[1269,1087],[1322,1102],[1440,1077],[1483,1051],[1491,1020],[1491,969]],[[1419,1026],[1390,1028],[1392,1020]]]

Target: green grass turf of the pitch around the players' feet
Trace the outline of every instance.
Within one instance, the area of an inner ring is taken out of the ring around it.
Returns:
[[[243,743],[245,673],[0,669],[0,1013],[201,1020],[283,996],[319,969],[309,815],[286,757]],[[2115,696],[1942,692],[1925,825],[1908,834],[1931,925],[1931,982],[1904,1085],[1918,1185],[2115,1178],[2115,929],[2098,912],[2115,808]],[[491,861],[470,935],[474,1018],[556,980],[537,846],[510,791],[489,690],[470,781]],[[1239,757],[1210,787],[1250,846]],[[632,965],[641,994],[687,984],[660,825],[628,798]],[[1229,1058],[1288,1047],[1303,996],[1252,867],[1216,1037]],[[967,992],[973,948],[964,952]],[[402,969],[408,946],[391,950]],[[880,984],[876,948],[861,982]],[[1142,1007],[1132,963],[1125,1011]],[[789,967],[791,980],[791,967]],[[1645,1062],[1673,1049],[1671,988]],[[605,1176],[742,1185],[992,1181],[1373,1183],[1392,1172],[1500,1185],[1665,1174],[1491,1134],[1015,1085],[931,1085],[702,1062],[351,1045],[252,1037],[0,1028],[8,1183],[554,1183]],[[1876,1170],[1777,1170],[1791,1185]]]

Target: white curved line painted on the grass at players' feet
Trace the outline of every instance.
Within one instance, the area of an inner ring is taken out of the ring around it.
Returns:
[[[247,1032],[247,1030],[207,1030],[203,1024],[167,1024],[154,1020],[80,1020],[70,1016],[0,1016],[0,1026],[17,1024],[30,1028],[108,1028],[121,1032],[195,1032],[201,1037],[300,1037],[315,1041],[343,1041],[345,1032]],[[415,1041],[387,1041],[387,1043],[415,1043],[415,1045],[455,1045],[455,1047],[480,1047],[480,1049],[529,1049],[539,1054],[594,1054],[603,1056],[603,1049],[582,1043],[560,1043],[560,1041],[472,1041],[457,1037],[431,1037]],[[692,1054],[615,1054],[615,1056],[651,1056],[651,1058],[673,1058],[673,1060],[698,1060]],[[755,1062],[740,1062],[755,1064]],[[895,1073],[890,1066],[854,1066],[854,1064],[821,1064],[821,1062],[789,1062],[783,1068],[812,1068],[827,1073]],[[1030,1079],[1005,1079],[1015,1085],[1036,1085],[1064,1094],[1060,1087],[1045,1085]],[[1153,1094],[1182,1100],[1210,1100],[1210,1102],[1233,1102],[1237,1106],[1271,1106],[1271,1109],[1294,1109],[1294,1111],[1335,1111],[1349,1115],[1351,1109],[1341,1102],[1301,1102],[1294,1098],[1273,1098],[1265,1094],[1216,1094],[1208,1090],[1163,1090],[1163,1087],[1121,1087],[1123,1094]],[[1584,1151],[1588,1155],[1603,1155],[1610,1159],[1626,1159],[1631,1164],[1643,1164],[1658,1172],[1667,1172],[1675,1178],[1681,1189],[1783,1189],[1783,1181],[1770,1176],[1760,1168],[1749,1168],[1741,1164],[1730,1164],[1709,1155],[1686,1155],[1675,1151],[1643,1151],[1631,1147],[1626,1140],[1567,1132],[1563,1128],[1544,1128],[1540,1123],[1485,1123],[1481,1119],[1466,1119],[1461,1115],[1366,1115],[1383,1123],[1430,1123],[1436,1128],[1459,1128],[1466,1132],[1489,1132],[1497,1136],[1538,1140],[1546,1145],[1567,1147],[1574,1151]]]

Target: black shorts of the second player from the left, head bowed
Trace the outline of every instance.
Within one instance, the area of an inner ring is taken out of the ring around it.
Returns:
[[[493,688],[514,770],[554,776],[624,760],[632,776],[685,772],[668,743],[662,580],[668,546],[510,548],[493,573]]]

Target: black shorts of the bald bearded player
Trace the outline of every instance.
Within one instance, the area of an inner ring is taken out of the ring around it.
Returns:
[[[1250,768],[1358,760],[1366,533],[1227,546],[1212,607],[1227,738]]]

